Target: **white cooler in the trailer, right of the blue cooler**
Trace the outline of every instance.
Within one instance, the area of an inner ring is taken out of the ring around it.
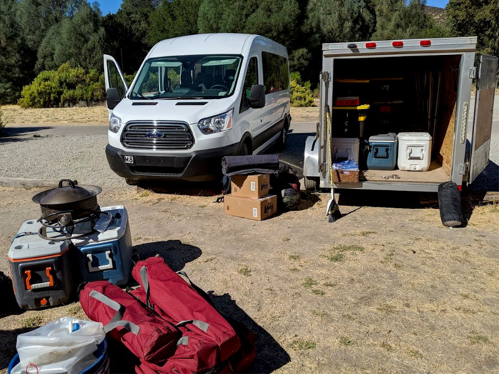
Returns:
[[[397,165],[400,170],[426,172],[431,164],[431,135],[399,133]]]

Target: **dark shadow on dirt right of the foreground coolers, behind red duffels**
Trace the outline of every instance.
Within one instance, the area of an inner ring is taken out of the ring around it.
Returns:
[[[140,260],[157,254],[165,259],[166,264],[173,271],[184,269],[185,264],[194,261],[201,256],[202,251],[197,246],[183,244],[180,240],[154,241],[152,243],[139,244],[133,246],[133,251],[138,254]]]

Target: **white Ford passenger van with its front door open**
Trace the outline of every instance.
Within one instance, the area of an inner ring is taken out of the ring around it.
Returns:
[[[128,85],[104,56],[111,169],[141,180],[209,180],[224,155],[285,147],[287,50],[257,35],[211,33],[160,41]]]

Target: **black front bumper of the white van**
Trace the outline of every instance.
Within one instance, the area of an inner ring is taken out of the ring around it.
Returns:
[[[107,145],[106,157],[110,168],[120,177],[130,180],[205,181],[220,177],[223,156],[237,155],[239,143],[227,147],[200,150],[189,154],[144,154],[140,150],[120,150]],[[133,156],[133,164],[125,163]]]

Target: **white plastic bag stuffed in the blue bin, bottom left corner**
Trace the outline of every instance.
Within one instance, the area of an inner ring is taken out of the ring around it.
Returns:
[[[80,373],[106,337],[102,323],[62,317],[17,336],[19,364],[12,374]]]

